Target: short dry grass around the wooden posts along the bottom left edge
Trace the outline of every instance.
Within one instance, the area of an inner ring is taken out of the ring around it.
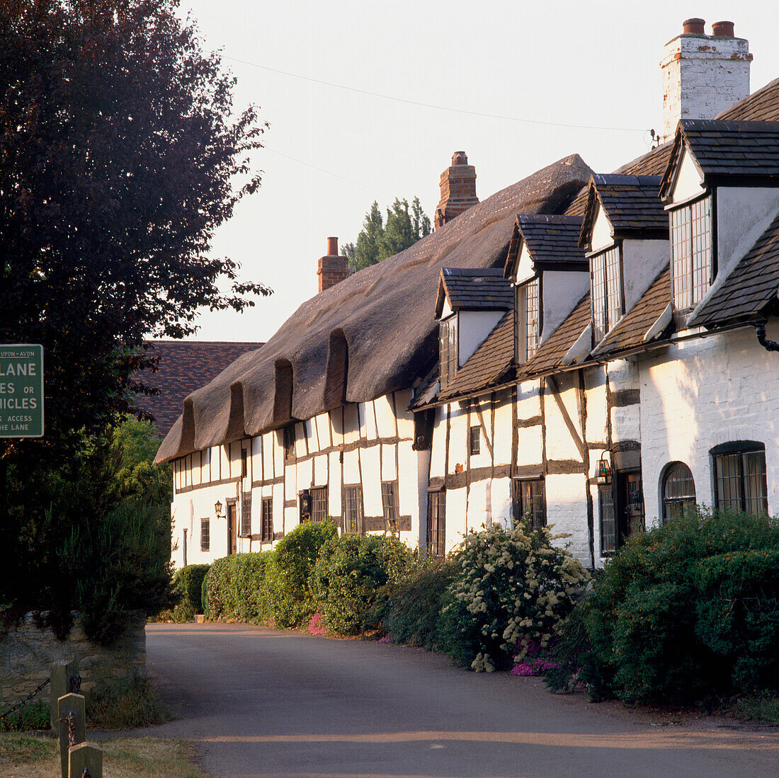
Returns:
[[[204,778],[192,745],[160,738],[119,738],[100,743],[104,778]],[[51,738],[0,734],[0,774],[51,778],[59,773],[59,748]]]

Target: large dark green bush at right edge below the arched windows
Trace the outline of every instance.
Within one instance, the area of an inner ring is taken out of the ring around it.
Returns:
[[[605,566],[577,618],[587,634],[566,668],[594,699],[715,704],[775,691],[779,521],[696,509],[640,533]],[[550,685],[566,686],[564,674]]]

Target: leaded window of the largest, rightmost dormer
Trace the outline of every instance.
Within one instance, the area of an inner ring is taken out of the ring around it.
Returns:
[[[672,210],[670,217],[673,301],[683,310],[697,305],[711,283],[711,196]]]

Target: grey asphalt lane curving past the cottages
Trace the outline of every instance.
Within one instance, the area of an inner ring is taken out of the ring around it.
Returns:
[[[404,646],[150,625],[147,667],[213,776],[779,776],[779,730],[593,705]]]

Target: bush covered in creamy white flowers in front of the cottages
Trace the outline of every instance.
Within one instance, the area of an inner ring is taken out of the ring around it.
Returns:
[[[524,522],[513,530],[496,524],[468,533],[442,614],[449,656],[492,672],[522,659],[531,642],[548,648],[590,577],[569,551],[552,544],[561,537]]]

